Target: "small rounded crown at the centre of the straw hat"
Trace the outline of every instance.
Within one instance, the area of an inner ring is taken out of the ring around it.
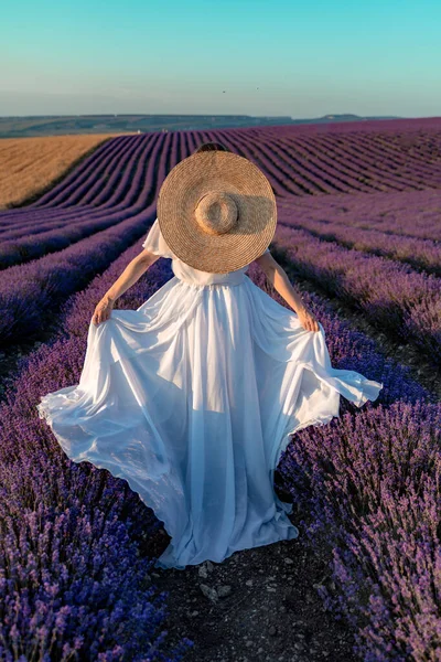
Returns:
[[[202,195],[194,210],[194,216],[203,232],[222,235],[237,224],[239,210],[232,195],[224,191],[209,191]]]

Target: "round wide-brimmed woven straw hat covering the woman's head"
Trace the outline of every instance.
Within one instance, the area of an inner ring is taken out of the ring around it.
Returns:
[[[276,197],[261,170],[219,150],[180,161],[160,189],[157,212],[172,253],[214,274],[235,271],[259,257],[277,224]]]

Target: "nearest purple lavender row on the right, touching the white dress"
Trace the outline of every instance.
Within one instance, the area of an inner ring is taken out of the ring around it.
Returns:
[[[257,266],[248,274],[267,289]],[[312,554],[324,546],[332,558],[319,594],[347,619],[361,659],[435,660],[441,405],[321,297],[303,298],[323,324],[333,365],[384,383],[375,403],[358,410],[343,401],[340,418],[292,436],[281,456],[279,481],[303,513],[297,524]]]

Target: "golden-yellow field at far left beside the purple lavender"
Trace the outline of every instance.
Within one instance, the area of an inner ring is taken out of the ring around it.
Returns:
[[[121,134],[2,138],[0,209],[43,193],[98,145]]]

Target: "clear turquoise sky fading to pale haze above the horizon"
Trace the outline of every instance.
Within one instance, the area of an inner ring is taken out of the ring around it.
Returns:
[[[439,0],[18,0],[0,116],[441,116],[440,32]]]

